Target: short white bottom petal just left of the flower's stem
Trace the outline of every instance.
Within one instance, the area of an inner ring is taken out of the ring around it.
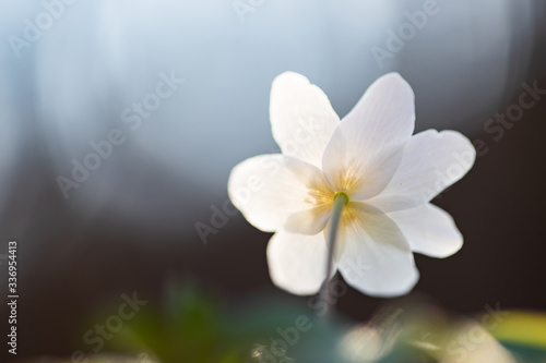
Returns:
[[[325,278],[327,242],[316,235],[277,231],[268,244],[268,264],[273,282],[295,294],[314,294]]]

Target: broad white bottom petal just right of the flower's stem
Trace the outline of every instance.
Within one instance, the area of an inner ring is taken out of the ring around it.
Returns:
[[[339,235],[343,251],[337,267],[343,278],[369,295],[407,293],[419,273],[401,230],[377,208],[354,202],[349,206]]]

